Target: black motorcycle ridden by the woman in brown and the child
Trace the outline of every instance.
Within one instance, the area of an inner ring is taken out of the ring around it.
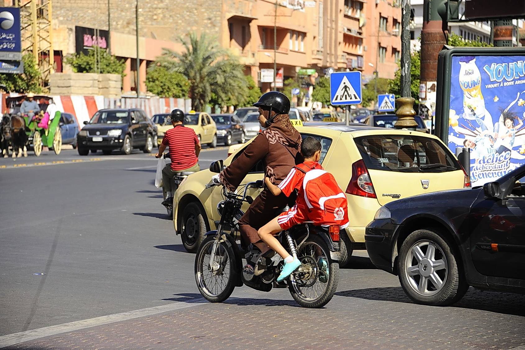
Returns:
[[[222,168],[222,161],[210,166],[213,172]],[[213,182],[206,184],[206,188],[213,186],[218,185]],[[239,193],[222,186],[224,200],[217,205],[220,214],[217,230],[206,233],[195,257],[198,290],[209,302],[220,303],[232,295],[235,287],[243,285],[264,292],[274,287],[288,287],[293,299],[303,307],[326,305],[339,282],[339,226],[323,228],[307,222],[280,232],[277,236],[279,242],[288,246],[292,255],[302,263],[281,282],[276,281],[284,265],[281,256],[273,251],[261,254],[253,244],[246,249],[237,244],[234,232],[238,231],[238,221],[244,214],[241,206],[253,202],[246,192],[249,188],[263,187],[261,180],[247,183],[244,191],[241,189]],[[328,275],[319,266],[321,258],[328,262]]]

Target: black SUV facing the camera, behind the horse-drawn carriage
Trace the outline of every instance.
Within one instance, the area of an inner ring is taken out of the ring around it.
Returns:
[[[81,156],[87,156],[89,150],[99,149],[104,155],[113,150],[129,155],[133,148],[144,153],[153,149],[156,132],[141,109],[101,109],[85,124],[77,136]]]

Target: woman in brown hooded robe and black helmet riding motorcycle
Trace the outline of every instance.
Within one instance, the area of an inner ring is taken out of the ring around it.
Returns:
[[[226,169],[213,177],[215,183],[224,184],[229,191],[235,191],[259,161],[265,167],[262,178],[269,178],[275,185],[286,178],[292,167],[302,162],[299,153],[301,135],[290,122],[288,97],[278,91],[269,91],[254,106],[259,107],[259,122],[266,130],[260,132]],[[239,220],[243,245],[253,243],[266,253],[269,248],[260,240],[257,230],[275,217],[277,209],[290,201],[295,202],[295,198],[287,198],[282,193],[276,197],[265,188]]]

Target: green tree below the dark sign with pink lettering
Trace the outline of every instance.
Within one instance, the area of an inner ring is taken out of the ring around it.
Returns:
[[[66,57],[66,64],[70,65],[76,73],[102,73],[102,74],[119,74],[125,76],[125,63],[112,56],[106,49],[93,46],[88,55],[80,53],[79,55],[70,55]]]

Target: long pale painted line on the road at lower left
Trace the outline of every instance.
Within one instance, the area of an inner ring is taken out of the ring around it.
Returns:
[[[119,314],[88,318],[87,320],[63,323],[56,326],[37,328],[36,330],[7,334],[4,336],[0,336],[0,348],[28,342],[34,339],[43,338],[50,335],[79,331],[83,330],[84,328],[101,326],[113,322],[127,321],[131,320],[132,318],[156,315],[164,312],[180,310],[181,308],[198,306],[202,305],[203,302],[205,302],[204,298],[196,298],[188,301],[173,302],[167,305],[141,308],[140,310],[133,310],[129,312],[122,312]]]

